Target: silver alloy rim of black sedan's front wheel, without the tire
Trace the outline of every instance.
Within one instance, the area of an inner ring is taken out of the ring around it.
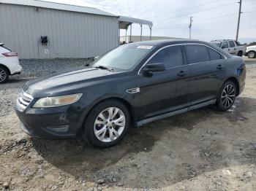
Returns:
[[[117,107],[109,107],[98,114],[94,122],[94,134],[103,142],[118,139],[125,128],[124,112]]]

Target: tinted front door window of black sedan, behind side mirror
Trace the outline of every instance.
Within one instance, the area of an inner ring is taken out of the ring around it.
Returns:
[[[183,64],[181,46],[167,47],[160,50],[148,63],[164,63],[167,69],[181,66]]]

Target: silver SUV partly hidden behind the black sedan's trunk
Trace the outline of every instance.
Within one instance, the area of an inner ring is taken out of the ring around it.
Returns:
[[[231,55],[242,56],[245,54],[246,47],[234,40],[214,40],[211,41],[211,43],[216,45],[217,47],[221,47],[223,50],[229,52]]]

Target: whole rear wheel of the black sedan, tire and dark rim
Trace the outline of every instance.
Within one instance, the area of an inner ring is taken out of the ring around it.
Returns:
[[[227,81],[222,85],[217,97],[217,109],[225,112],[233,106],[236,99],[236,85],[232,81]]]

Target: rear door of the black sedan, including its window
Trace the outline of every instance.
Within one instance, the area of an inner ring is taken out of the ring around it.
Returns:
[[[188,44],[186,52],[191,66],[189,107],[213,101],[225,77],[224,56],[203,44]]]

